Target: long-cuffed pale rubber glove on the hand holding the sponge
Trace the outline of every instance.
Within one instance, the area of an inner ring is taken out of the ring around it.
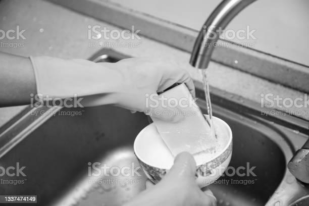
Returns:
[[[130,58],[117,63],[93,63],[52,57],[34,57],[31,61],[41,98],[63,99],[77,94],[84,98],[80,101],[84,107],[113,104],[132,111],[149,112],[147,95],[157,94],[174,83],[185,83],[195,96],[188,72],[171,61]],[[160,109],[160,105],[155,108]],[[159,118],[170,120],[175,117]]]

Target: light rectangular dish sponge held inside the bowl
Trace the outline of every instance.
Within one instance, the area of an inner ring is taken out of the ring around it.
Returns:
[[[180,119],[177,122],[166,121],[155,116],[151,117],[173,156],[182,151],[188,151],[194,158],[199,156],[204,160],[208,156],[213,156],[216,153],[218,142],[210,124],[205,120],[185,84],[177,85],[158,97],[165,99],[166,110],[174,111],[173,115],[181,116],[181,118],[176,118]],[[178,105],[176,108],[179,110],[175,112],[175,108],[171,108],[172,106],[168,102],[176,102]]]

